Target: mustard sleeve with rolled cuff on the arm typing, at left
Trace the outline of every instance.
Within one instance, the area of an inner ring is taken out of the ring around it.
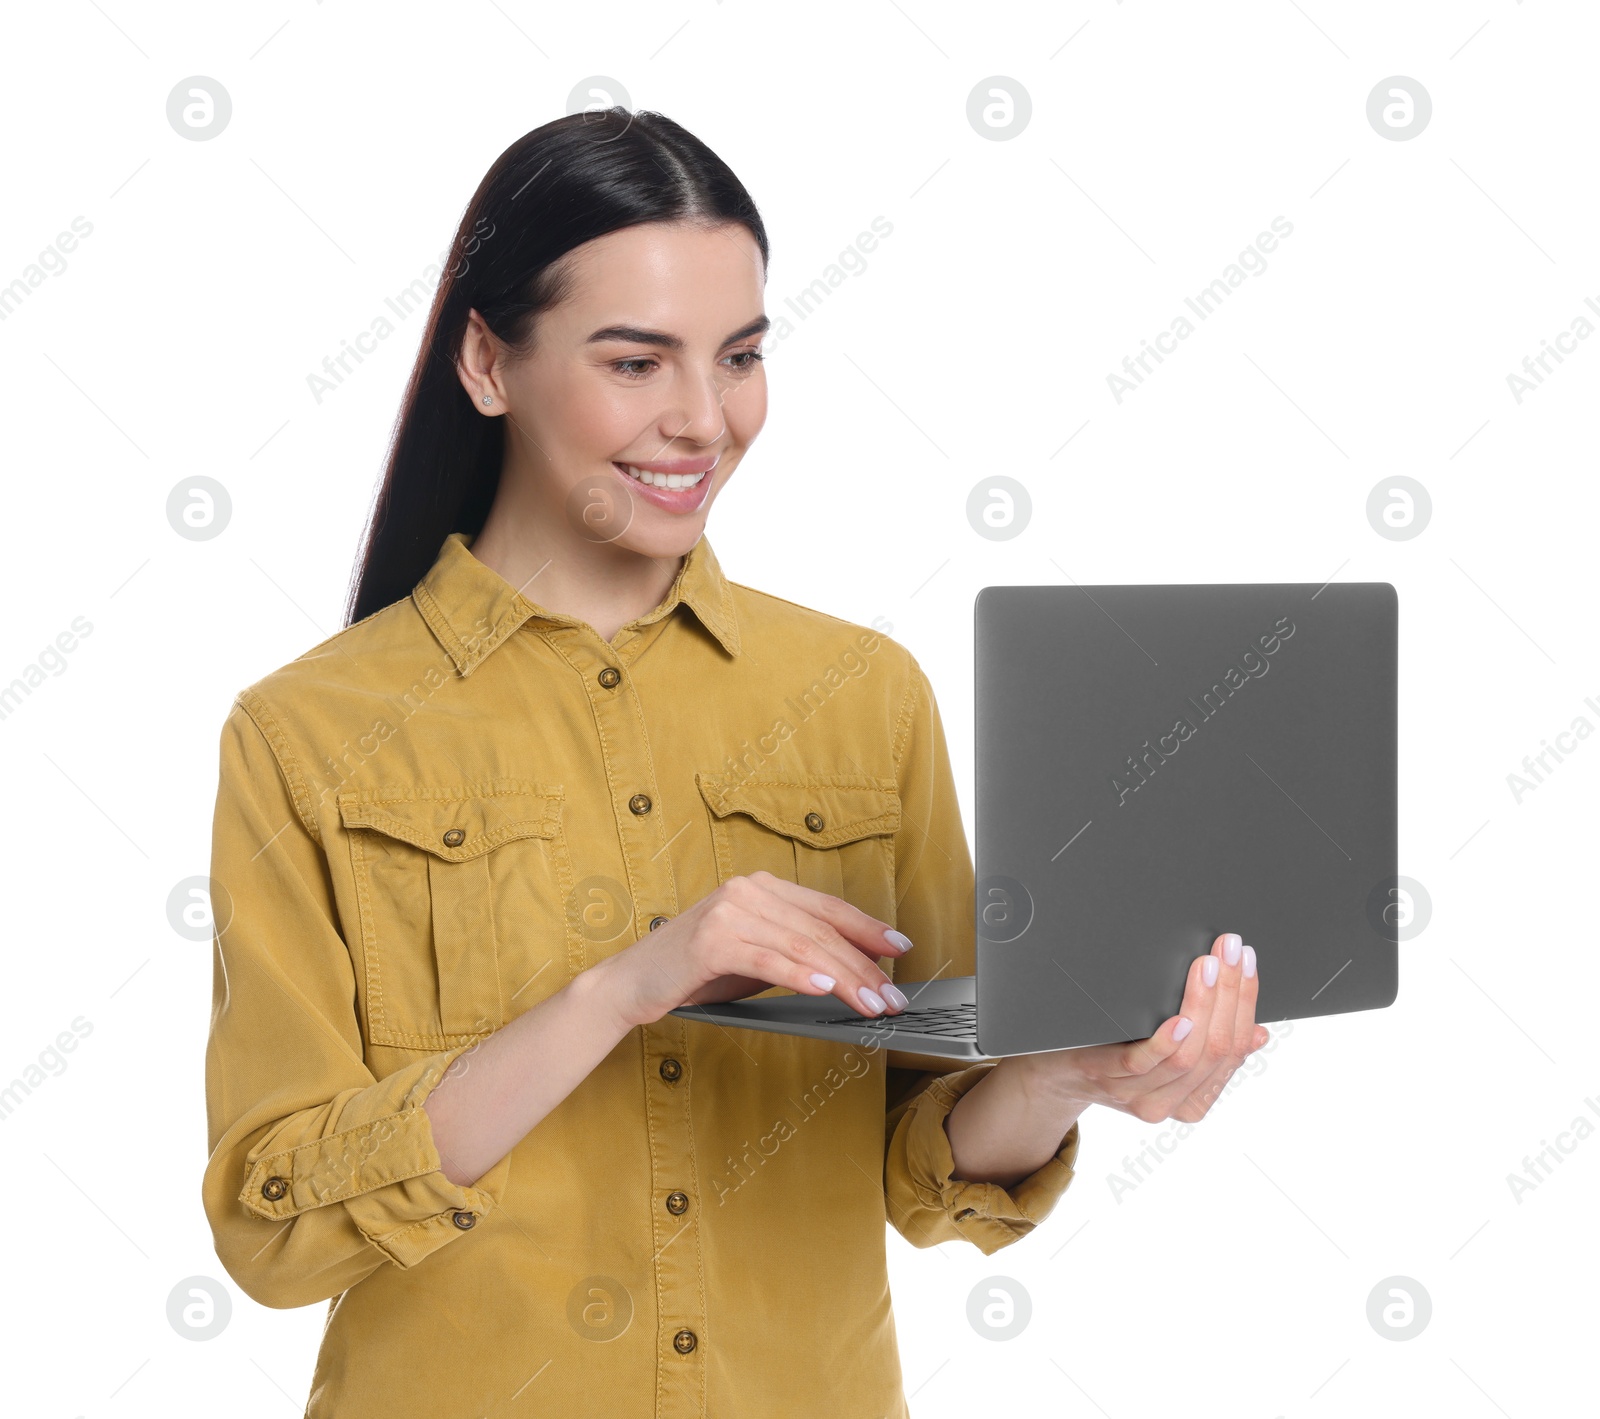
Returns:
[[[222,728],[211,838],[202,1197],[218,1259],[274,1307],[326,1301],[466,1238],[510,1166],[458,1185],[440,1165],[422,1104],[470,1045],[381,1080],[366,1067],[355,965],[306,803],[277,720],[246,691]]]

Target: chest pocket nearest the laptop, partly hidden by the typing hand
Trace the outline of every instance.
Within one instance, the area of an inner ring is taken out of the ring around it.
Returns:
[[[894,920],[893,779],[698,773],[694,782],[710,811],[718,883],[766,870]]]

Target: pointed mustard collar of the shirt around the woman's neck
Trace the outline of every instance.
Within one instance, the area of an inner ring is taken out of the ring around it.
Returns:
[[[498,571],[478,562],[470,546],[470,533],[451,533],[445,538],[432,568],[411,590],[418,611],[461,675],[470,675],[525,621],[538,618],[552,626],[582,624],[576,616],[549,611],[522,595]],[[733,595],[704,534],[690,547],[661,605],[637,616],[629,626],[651,626],[669,616],[680,602],[730,656],[739,654]]]

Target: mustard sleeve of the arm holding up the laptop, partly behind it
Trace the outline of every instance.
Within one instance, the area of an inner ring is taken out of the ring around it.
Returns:
[[[896,926],[914,947],[894,961],[893,977],[915,1000],[917,981],[971,976],[976,966],[971,849],[939,707],[915,659],[894,765],[902,817],[894,840]],[[1054,1155],[1011,1187],[952,1176],[944,1120],[997,1064],[888,1051],[883,1198],[890,1222],[912,1246],[966,1240],[989,1256],[1032,1232],[1072,1184],[1077,1121]]]

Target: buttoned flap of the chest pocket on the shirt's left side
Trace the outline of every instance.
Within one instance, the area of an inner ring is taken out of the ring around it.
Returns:
[[[562,789],[526,779],[485,779],[446,787],[347,789],[346,827],[366,827],[464,862],[512,838],[549,838],[562,817]]]

